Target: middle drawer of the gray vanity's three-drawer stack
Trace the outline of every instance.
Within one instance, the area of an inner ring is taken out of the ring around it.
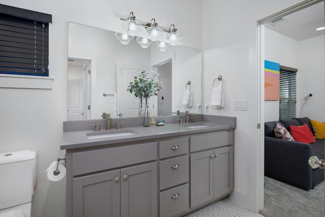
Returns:
[[[167,189],[188,181],[188,156],[173,158],[159,162],[159,189]]]

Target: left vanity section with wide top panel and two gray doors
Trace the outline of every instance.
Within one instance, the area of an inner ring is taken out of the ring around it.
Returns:
[[[67,156],[73,213],[67,208],[67,216],[158,215],[157,142],[92,148]]]

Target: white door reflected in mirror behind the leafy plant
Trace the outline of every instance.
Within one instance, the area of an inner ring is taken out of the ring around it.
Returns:
[[[151,71],[150,66],[128,66],[117,63],[117,113],[122,117],[138,117],[140,99],[126,91],[130,82],[134,82],[134,77],[143,71]],[[157,108],[157,97],[150,97],[148,100],[151,110]],[[155,112],[153,112],[154,114]]]

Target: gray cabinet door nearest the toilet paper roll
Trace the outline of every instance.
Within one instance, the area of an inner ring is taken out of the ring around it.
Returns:
[[[73,216],[120,215],[120,172],[114,170],[73,179]]]

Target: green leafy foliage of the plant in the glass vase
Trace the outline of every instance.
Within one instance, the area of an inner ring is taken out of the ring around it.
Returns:
[[[152,74],[150,77],[149,75]],[[149,97],[157,96],[157,91],[159,89],[158,74],[151,71],[141,72],[140,75],[134,77],[134,82],[130,82],[126,91],[131,92],[134,96],[138,97],[142,102],[143,99],[148,100]]]

